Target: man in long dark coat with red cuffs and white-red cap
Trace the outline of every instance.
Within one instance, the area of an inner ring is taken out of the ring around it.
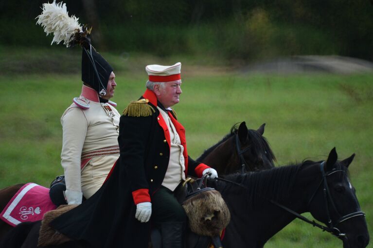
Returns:
[[[183,247],[187,217],[174,191],[186,175],[217,177],[213,168],[188,156],[185,129],[171,109],[182,93],[181,63],[145,69],[147,89],[123,112],[120,157],[107,182],[52,222],[56,230],[93,247],[145,248],[151,225],[161,230],[163,248]]]

